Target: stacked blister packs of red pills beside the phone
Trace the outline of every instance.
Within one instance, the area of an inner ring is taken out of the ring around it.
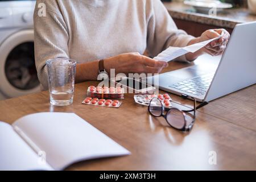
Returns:
[[[109,99],[123,99],[125,95],[125,89],[121,87],[101,87],[90,86],[87,90],[87,96],[92,98],[109,98]]]

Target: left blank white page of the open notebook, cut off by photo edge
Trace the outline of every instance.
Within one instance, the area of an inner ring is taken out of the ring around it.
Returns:
[[[11,125],[0,122],[0,171],[53,170],[42,163],[38,154],[14,131]]]

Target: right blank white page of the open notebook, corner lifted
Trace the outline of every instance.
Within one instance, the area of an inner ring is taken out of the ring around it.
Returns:
[[[60,170],[81,160],[129,155],[130,152],[72,113],[38,113],[16,121],[46,161]]]

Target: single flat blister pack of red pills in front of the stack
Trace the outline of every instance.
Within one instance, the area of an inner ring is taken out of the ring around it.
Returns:
[[[82,104],[93,105],[93,106],[102,106],[102,107],[119,108],[122,105],[122,102],[117,101],[117,100],[113,101],[113,100],[105,100],[105,99],[87,97],[87,98],[85,98],[84,101],[82,101]]]

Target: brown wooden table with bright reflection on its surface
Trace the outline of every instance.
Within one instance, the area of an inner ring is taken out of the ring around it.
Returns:
[[[203,63],[197,60],[195,64]],[[171,63],[164,71],[189,64]],[[76,85],[73,105],[49,105],[48,92],[0,101],[0,121],[13,123],[27,114],[44,111],[76,113],[131,151],[130,156],[73,164],[68,170],[256,169],[256,85],[210,102],[197,111],[191,133],[181,133],[153,118],[147,107],[126,94],[119,109],[82,105],[89,81]],[[188,107],[192,101],[172,95]],[[217,164],[209,164],[211,151]]]

